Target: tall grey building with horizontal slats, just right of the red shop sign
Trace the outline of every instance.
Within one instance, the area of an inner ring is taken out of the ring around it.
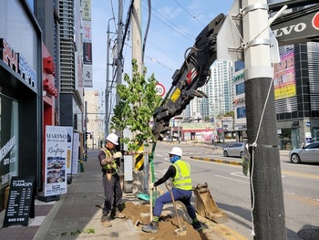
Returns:
[[[84,92],[80,0],[59,0],[60,124],[82,132]],[[62,103],[62,104],[61,104]]]

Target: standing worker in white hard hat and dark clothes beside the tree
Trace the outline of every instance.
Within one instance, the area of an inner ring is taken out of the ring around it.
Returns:
[[[110,133],[106,139],[105,147],[98,151],[98,160],[102,167],[102,185],[104,188],[104,206],[101,217],[103,226],[112,226],[111,219],[125,218],[125,214],[120,213],[123,209],[122,189],[118,175],[119,159],[122,156],[120,151],[116,151],[118,146],[118,135]]]

